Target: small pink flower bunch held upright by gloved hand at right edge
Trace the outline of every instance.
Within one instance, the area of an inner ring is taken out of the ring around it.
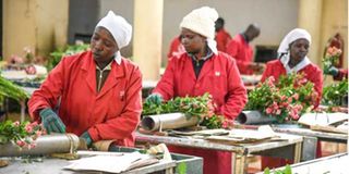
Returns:
[[[324,72],[328,72],[332,66],[336,66],[339,63],[339,57],[341,50],[336,47],[329,47],[326,50],[326,54],[323,59]]]

